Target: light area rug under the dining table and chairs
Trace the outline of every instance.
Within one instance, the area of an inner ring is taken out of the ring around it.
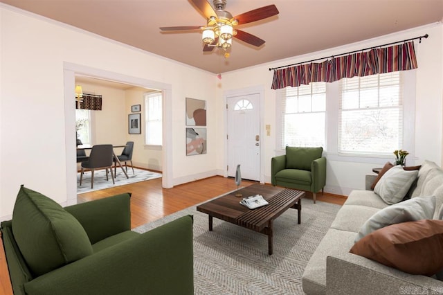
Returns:
[[[77,173],[77,193],[89,193],[94,190],[103,190],[105,188],[114,188],[114,186],[123,186],[125,184],[134,184],[134,182],[145,181],[150,179],[156,179],[161,177],[161,173],[152,172],[143,169],[134,168],[134,173],[132,173],[132,169],[127,169],[127,176],[120,168],[117,168],[117,175],[115,175],[116,184],[112,183],[111,175],[109,174],[109,180],[106,180],[106,172],[105,170],[97,170],[94,173],[94,187],[91,189],[91,172],[87,171],[83,174],[82,186],[80,186],[80,172]]]

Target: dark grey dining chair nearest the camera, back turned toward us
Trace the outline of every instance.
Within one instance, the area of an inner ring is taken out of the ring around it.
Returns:
[[[94,171],[106,169],[106,180],[108,179],[108,169],[111,170],[112,183],[114,181],[114,173],[112,172],[112,163],[114,152],[112,145],[93,145],[89,159],[82,162],[82,171],[80,172],[80,186],[82,185],[83,173],[85,169],[91,170],[91,188],[94,185]]]

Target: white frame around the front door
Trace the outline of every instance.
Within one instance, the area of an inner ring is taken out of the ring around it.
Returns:
[[[226,167],[228,167],[228,140],[226,136],[228,135],[228,109],[226,109],[226,105],[228,104],[228,98],[235,97],[235,96],[248,96],[252,94],[258,94],[260,96],[260,184],[264,184],[264,87],[263,86],[254,86],[254,87],[247,87],[242,89],[232,89],[232,90],[226,90],[223,91],[223,98],[224,98],[224,172],[223,176],[228,177],[228,170]]]

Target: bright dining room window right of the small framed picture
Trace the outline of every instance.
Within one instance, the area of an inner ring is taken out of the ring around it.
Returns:
[[[145,95],[146,135],[145,144],[162,145],[162,102],[161,92]]]

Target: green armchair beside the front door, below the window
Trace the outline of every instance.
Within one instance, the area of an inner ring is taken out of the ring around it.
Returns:
[[[323,147],[286,147],[286,154],[271,159],[271,183],[312,193],[314,204],[316,193],[326,184],[326,158]]]

